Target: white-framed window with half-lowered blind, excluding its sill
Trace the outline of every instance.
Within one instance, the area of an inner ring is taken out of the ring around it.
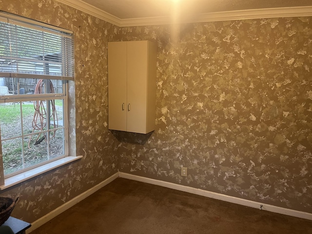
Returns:
[[[0,173],[13,176],[68,156],[73,80],[71,31],[0,12]]]

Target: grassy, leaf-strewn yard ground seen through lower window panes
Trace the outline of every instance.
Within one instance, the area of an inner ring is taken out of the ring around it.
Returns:
[[[55,100],[55,104],[59,107],[63,106],[62,100]],[[35,113],[34,105],[32,102],[25,102],[25,104],[22,104],[21,107],[23,111],[23,134],[30,134],[32,133],[32,119]],[[58,109],[62,109],[59,107]],[[59,119],[63,117],[63,112],[61,110],[58,110],[58,117]],[[1,130],[3,130],[1,134],[2,136],[4,136],[4,138],[20,136],[21,133],[19,103],[16,103],[15,105],[0,105],[0,124]],[[45,143],[45,141],[35,146],[34,143],[36,141],[36,135],[34,135],[30,144],[31,149],[29,149],[27,140],[28,138],[29,137],[25,137],[23,142],[25,167],[32,166],[39,162],[47,160],[47,144]],[[57,132],[57,137],[55,138],[55,140],[53,140],[53,142],[53,144],[62,145],[62,135],[58,134]],[[4,175],[8,175],[22,169],[21,146],[22,145],[20,137],[17,139],[2,141]],[[51,147],[50,150],[50,154],[52,157],[59,155],[59,150],[56,146]]]

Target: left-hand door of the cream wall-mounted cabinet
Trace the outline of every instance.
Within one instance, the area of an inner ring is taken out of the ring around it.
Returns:
[[[108,129],[127,131],[127,42],[108,42]]]

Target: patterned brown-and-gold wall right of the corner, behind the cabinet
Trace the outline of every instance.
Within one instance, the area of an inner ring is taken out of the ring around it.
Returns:
[[[156,130],[137,144],[118,134],[120,171],[312,213],[312,18],[127,27],[118,39],[158,43]]]

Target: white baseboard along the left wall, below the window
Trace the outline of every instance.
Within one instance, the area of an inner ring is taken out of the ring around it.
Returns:
[[[78,202],[82,201],[84,198],[92,195],[93,193],[97,192],[99,189],[103,188],[105,185],[109,184],[113,180],[118,178],[118,173],[115,173],[113,176],[105,179],[101,183],[97,184],[96,186],[88,189],[84,193],[74,197],[70,201],[64,203],[63,205],[59,206],[57,209],[51,211],[50,213],[44,215],[43,217],[37,219],[35,222],[31,224],[31,227],[26,230],[26,234],[34,231],[35,229],[39,228],[41,225],[45,224],[46,222],[50,221],[52,218],[56,217],[57,215],[61,214],[62,212],[66,211],[67,209],[71,208],[72,206],[76,205]]]

